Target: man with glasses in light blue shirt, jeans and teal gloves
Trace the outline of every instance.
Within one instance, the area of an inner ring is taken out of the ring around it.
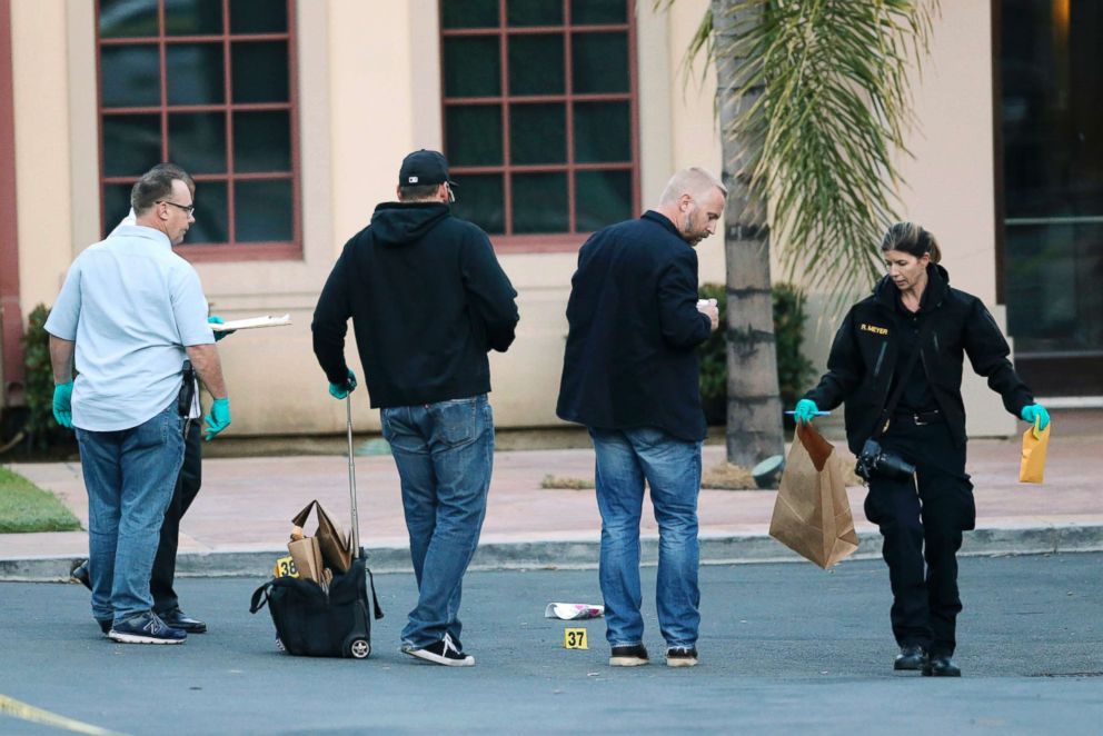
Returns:
[[[46,324],[54,416],[76,428],[88,491],[92,615],[117,641],[187,638],[153,613],[149,590],[183,460],[185,358],[215,397],[207,439],[230,424],[199,276],[172,252],[195,221],[188,179],[161,165],[135,183],[136,225],[77,257]]]

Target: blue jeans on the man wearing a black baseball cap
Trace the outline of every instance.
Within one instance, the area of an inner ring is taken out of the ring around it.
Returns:
[[[486,516],[494,467],[494,412],[486,395],[385,408],[403,486],[418,601],[403,641],[425,647],[445,634],[460,647],[459,601]]]

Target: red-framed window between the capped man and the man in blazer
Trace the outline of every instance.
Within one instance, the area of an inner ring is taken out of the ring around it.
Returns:
[[[638,213],[635,2],[441,0],[440,29],[457,216],[524,245]]]

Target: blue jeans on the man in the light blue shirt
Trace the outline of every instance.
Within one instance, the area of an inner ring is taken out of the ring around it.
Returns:
[[[183,463],[176,401],[130,429],[77,429],[88,490],[92,615],[119,624],[153,607],[149,577]]]

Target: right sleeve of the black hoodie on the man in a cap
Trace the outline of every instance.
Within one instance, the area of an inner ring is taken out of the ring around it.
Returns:
[[[505,352],[514,341],[517,291],[494,256],[489,238],[479,232],[465,242],[460,269],[476,317],[486,328],[487,348]]]

